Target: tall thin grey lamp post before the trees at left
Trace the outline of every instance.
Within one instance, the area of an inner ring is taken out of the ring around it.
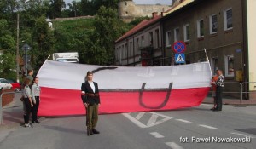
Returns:
[[[25,3],[29,2],[30,0],[26,0]],[[20,83],[20,51],[19,51],[19,36],[20,34],[20,8],[18,6],[17,11],[17,42],[16,42],[16,80],[17,83]]]

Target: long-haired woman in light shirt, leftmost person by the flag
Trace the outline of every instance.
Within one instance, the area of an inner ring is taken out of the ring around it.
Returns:
[[[30,79],[26,78],[23,83],[23,102],[24,106],[26,107],[26,115],[24,114],[24,120],[25,120],[25,127],[31,127],[32,125],[29,123],[29,117],[32,112],[32,91],[29,87]]]

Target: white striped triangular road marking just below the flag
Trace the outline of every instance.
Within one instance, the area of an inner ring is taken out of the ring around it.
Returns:
[[[128,119],[130,119],[132,123],[137,124],[137,126],[140,127],[140,128],[149,128],[149,127],[155,126],[155,125],[160,124],[160,123],[164,123],[164,122],[172,119],[172,117],[168,117],[166,115],[162,115],[162,114],[159,114],[159,113],[156,113],[156,112],[148,112],[148,113],[151,113],[152,115],[148,119],[148,123],[147,124],[141,123],[137,119],[137,118],[143,117],[143,115],[144,115],[143,113],[142,114],[138,114],[139,116],[137,115],[137,117],[132,117],[130,115],[130,113],[123,113],[123,115],[125,117],[127,117]],[[157,120],[158,117],[161,117],[161,118],[164,117],[164,118],[163,119],[159,118],[160,120]]]

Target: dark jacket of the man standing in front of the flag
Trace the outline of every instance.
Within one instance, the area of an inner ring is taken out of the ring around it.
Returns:
[[[101,103],[98,84],[95,83],[95,82],[93,82],[93,83],[94,83],[94,86],[95,86],[95,93],[91,89],[90,84],[88,83],[88,81],[85,81],[84,83],[82,83],[81,91],[85,92],[85,95],[82,95],[83,103],[89,103],[90,105]],[[90,95],[90,94],[94,94],[94,95]]]

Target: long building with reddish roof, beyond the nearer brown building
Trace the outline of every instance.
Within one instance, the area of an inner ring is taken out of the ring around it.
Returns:
[[[115,43],[115,65],[152,66],[160,65],[161,27],[160,15],[153,13],[151,20],[143,20]],[[142,56],[143,55],[143,56]]]

